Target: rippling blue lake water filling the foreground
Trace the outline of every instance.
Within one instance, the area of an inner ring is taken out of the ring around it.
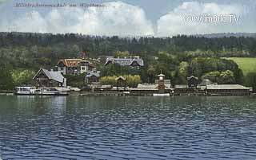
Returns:
[[[0,96],[2,159],[256,159],[256,97]]]

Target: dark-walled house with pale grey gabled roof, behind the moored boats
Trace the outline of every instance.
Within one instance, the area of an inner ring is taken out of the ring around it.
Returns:
[[[33,82],[37,87],[66,87],[66,78],[61,72],[44,68],[40,68],[34,75]]]

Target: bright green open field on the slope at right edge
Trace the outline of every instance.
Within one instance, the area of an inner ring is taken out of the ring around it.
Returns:
[[[227,59],[234,60],[242,69],[244,76],[249,72],[256,72],[256,58],[230,57]]]

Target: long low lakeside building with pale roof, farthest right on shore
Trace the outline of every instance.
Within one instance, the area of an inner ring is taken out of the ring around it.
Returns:
[[[252,88],[240,84],[209,84],[206,85],[207,95],[246,96],[250,95]]]

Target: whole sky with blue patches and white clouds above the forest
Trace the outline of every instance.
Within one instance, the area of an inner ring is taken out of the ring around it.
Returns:
[[[256,33],[256,1],[0,0],[0,32],[10,31],[120,37]]]

